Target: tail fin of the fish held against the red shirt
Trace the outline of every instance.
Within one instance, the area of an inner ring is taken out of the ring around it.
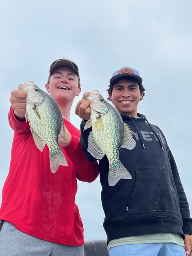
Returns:
[[[67,160],[62,150],[60,150],[60,152],[58,152],[57,154],[50,153],[51,172],[55,173],[60,165],[68,166]]]

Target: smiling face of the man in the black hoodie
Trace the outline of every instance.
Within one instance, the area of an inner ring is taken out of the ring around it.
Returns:
[[[143,96],[137,82],[119,80],[109,96],[120,114],[137,117],[138,103]]]

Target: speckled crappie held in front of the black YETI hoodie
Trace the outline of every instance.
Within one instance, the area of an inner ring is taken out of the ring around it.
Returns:
[[[92,126],[88,136],[88,152],[94,158],[109,161],[108,182],[114,186],[120,179],[131,179],[131,175],[119,160],[119,148],[133,149],[136,145],[130,128],[125,124],[116,108],[107,102],[97,90],[84,95],[91,102],[91,118],[84,130]]]

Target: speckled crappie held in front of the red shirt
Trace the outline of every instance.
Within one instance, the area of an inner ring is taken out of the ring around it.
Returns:
[[[50,152],[50,168],[55,173],[60,165],[68,166],[58,144],[58,135],[65,140],[62,114],[58,104],[47,92],[34,82],[25,82],[19,90],[27,92],[26,120],[29,120],[31,133],[37,148],[43,151],[47,144]]]

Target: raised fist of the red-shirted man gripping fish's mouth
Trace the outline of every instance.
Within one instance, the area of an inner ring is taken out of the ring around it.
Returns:
[[[10,96],[11,106],[18,120],[25,120],[26,113],[26,92],[21,90],[13,90]]]

